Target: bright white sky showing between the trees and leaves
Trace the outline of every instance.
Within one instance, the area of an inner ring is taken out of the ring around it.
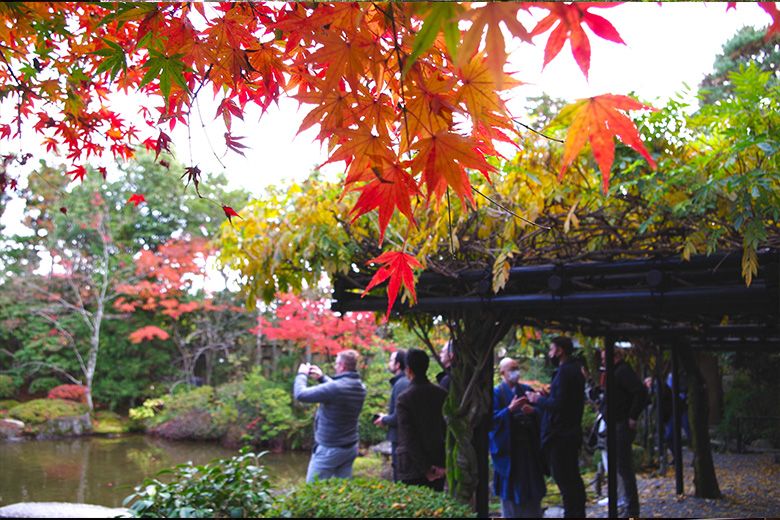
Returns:
[[[533,12],[537,18],[540,16],[540,10]],[[695,90],[704,74],[712,70],[722,45],[739,28],[766,27],[770,21],[761,8],[750,3],[738,4],[736,10],[727,12],[725,3],[659,6],[629,2],[609,9],[593,9],[593,12],[610,20],[627,45],[602,40],[586,29],[592,46],[590,81],[586,81],[574,62],[568,43],[542,72],[544,44],[549,32],[537,37],[535,46],[514,45],[511,67],[517,70],[517,79],[527,83],[517,89],[517,103],[541,92],[569,100],[603,93],[635,92],[645,101],[663,104],[682,90],[684,83]],[[282,100],[279,107],[272,106],[262,119],[259,111],[250,110],[243,123],[234,120],[233,134],[244,136],[242,142],[251,149],[246,150],[245,158],[228,153],[222,159],[223,166],[214,158],[208,141],[215,144],[221,155],[224,128],[221,121],[212,122],[215,109],[209,106],[208,95],[204,94],[201,94],[201,108],[205,128],[201,129],[200,121],[193,122],[191,145],[186,129],[178,127],[173,132],[177,157],[182,163],[198,164],[204,172],[225,172],[232,187],[240,186],[260,194],[269,184],[283,179],[305,178],[325,161],[325,151],[313,142],[315,129],[296,136],[307,106],[299,111],[297,103]],[[9,105],[3,104],[2,109],[9,109]],[[515,115],[523,114],[518,109]],[[210,135],[208,140],[206,133]],[[25,148],[41,150],[37,141],[36,145]],[[37,164],[38,158],[31,162]],[[337,163],[327,165],[324,171],[333,173],[341,168],[343,163]],[[21,204],[17,201],[3,216],[7,233],[19,231],[20,217]]]

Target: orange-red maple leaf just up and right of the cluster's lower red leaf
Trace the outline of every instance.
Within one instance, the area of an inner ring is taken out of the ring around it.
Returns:
[[[479,170],[488,180],[490,172],[495,170],[485,160],[482,148],[471,137],[441,131],[412,146],[418,153],[411,168],[413,172],[422,172],[429,197],[431,194],[441,197],[449,185],[461,199],[473,200],[466,168]]]

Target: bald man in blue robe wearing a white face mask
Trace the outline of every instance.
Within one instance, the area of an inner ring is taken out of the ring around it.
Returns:
[[[528,404],[520,382],[517,361],[504,358],[498,364],[501,383],[493,389],[493,491],[501,498],[503,518],[541,518],[546,492],[544,464],[539,446],[539,416]]]

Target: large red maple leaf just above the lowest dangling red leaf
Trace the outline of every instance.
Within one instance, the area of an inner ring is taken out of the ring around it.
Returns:
[[[351,213],[355,215],[352,217],[354,221],[374,208],[379,208],[379,243],[381,244],[395,208],[398,208],[406,218],[414,221],[411,198],[419,193],[419,189],[414,178],[397,163],[387,163],[381,170],[374,167],[373,171],[376,178],[359,188],[360,197]]]

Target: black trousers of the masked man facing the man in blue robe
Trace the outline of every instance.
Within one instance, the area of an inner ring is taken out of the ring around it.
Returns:
[[[585,484],[580,476],[581,438],[555,438],[545,445],[553,480],[561,491],[565,518],[585,518]]]

